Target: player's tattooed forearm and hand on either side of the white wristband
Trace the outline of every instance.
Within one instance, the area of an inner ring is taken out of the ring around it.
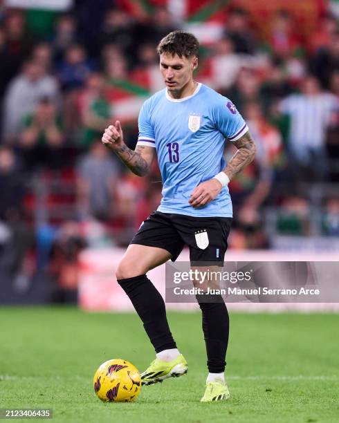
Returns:
[[[255,143],[249,132],[246,132],[239,140],[232,142],[237,147],[238,151],[230,159],[223,173],[226,173],[231,180],[239,171],[244,169],[255,158]],[[210,203],[217,197],[223,185],[221,182],[212,178],[201,182],[191,193],[188,203],[193,207],[201,207]]]

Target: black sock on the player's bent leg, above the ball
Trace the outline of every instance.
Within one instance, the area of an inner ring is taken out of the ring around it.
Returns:
[[[160,292],[145,274],[134,278],[119,279],[119,285],[131,300],[156,353],[176,348],[167,323],[165,303]]]

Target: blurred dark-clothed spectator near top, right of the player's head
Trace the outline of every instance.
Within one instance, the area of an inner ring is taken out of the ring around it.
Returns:
[[[255,34],[248,25],[246,10],[240,8],[232,10],[224,36],[232,41],[235,53],[253,55],[255,52]]]

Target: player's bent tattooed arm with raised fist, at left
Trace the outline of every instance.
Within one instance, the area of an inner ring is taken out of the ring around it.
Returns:
[[[114,151],[116,155],[138,176],[145,176],[151,167],[155,156],[154,147],[137,146],[133,151],[127,147],[123,140],[120,122],[116,126],[110,125],[102,135],[102,144]]]

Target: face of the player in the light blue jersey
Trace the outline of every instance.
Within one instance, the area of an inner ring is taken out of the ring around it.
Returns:
[[[167,90],[180,93],[193,80],[193,71],[198,65],[196,56],[178,57],[169,53],[160,55],[160,71],[163,75]]]

